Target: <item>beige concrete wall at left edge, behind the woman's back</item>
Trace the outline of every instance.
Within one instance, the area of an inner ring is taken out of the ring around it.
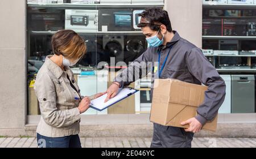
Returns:
[[[26,0],[1,0],[0,20],[0,135],[8,135],[26,122]]]

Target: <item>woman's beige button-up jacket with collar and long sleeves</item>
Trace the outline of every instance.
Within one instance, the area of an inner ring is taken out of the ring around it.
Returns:
[[[47,137],[77,135],[81,117],[77,108],[80,101],[75,97],[81,97],[79,87],[70,68],[61,70],[50,57],[40,68],[34,85],[42,114],[36,132]],[[79,93],[71,87],[67,75]]]

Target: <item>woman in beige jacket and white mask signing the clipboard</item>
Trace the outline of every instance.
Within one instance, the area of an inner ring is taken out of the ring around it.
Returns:
[[[86,53],[84,40],[71,30],[52,37],[54,55],[48,55],[36,77],[34,89],[42,118],[37,127],[39,147],[81,148],[79,131],[81,113],[93,97],[82,97],[69,66],[75,65]]]

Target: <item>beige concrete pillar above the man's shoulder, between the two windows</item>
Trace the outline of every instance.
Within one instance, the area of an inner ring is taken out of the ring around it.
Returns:
[[[201,0],[166,0],[164,8],[168,11],[172,28],[180,36],[202,48],[202,14]]]

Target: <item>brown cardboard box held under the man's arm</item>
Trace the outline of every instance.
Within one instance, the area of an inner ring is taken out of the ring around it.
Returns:
[[[150,121],[163,126],[188,128],[180,123],[196,117],[197,108],[204,101],[207,87],[175,79],[156,79]],[[207,122],[203,130],[216,131],[217,117]]]

